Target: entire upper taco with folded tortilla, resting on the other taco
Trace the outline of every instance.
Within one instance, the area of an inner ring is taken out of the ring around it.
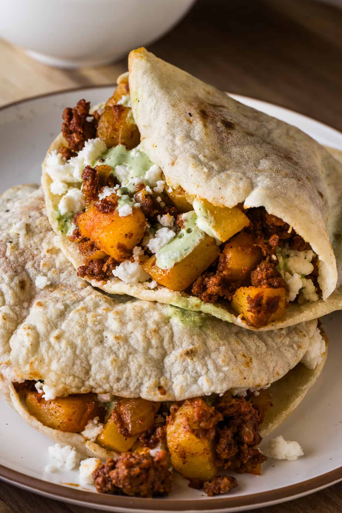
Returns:
[[[129,69],[95,111],[65,109],[43,165],[78,275],[250,329],[313,318],[337,281],[324,172],[339,163],[145,49]]]

